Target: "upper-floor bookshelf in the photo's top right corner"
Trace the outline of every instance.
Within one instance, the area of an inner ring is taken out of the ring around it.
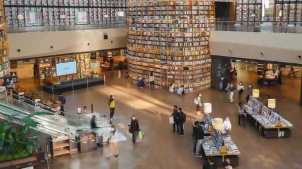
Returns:
[[[276,0],[275,21],[280,25],[301,25],[302,22],[302,0]],[[300,23],[294,23],[300,22]]]

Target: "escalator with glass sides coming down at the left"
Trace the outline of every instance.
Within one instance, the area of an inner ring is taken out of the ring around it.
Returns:
[[[11,93],[13,95],[13,93]],[[99,113],[73,115],[48,107],[44,104],[33,102],[26,98],[14,99],[0,93],[0,118],[6,120],[9,116],[15,115],[12,122],[19,124],[19,121],[33,112],[50,112],[53,115],[34,116],[32,119],[38,123],[34,129],[50,134],[55,137],[68,135],[75,140],[81,132],[94,131],[101,133],[104,138],[110,136],[110,121]],[[64,114],[65,116],[61,116]],[[97,129],[90,128],[91,116],[96,116]]]

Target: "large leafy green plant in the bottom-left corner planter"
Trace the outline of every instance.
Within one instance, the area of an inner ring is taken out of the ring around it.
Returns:
[[[8,116],[6,122],[0,124],[0,162],[31,156],[39,141],[30,136],[40,134],[39,131],[34,130],[38,123],[32,117],[53,114],[34,112],[20,119],[19,122],[14,120],[17,115]],[[12,123],[18,123],[18,125],[14,127]]]

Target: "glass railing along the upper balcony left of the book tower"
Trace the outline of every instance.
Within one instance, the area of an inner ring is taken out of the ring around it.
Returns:
[[[124,27],[126,27],[126,23],[96,24],[96,25],[25,26],[25,27],[7,27],[7,33],[74,31],[74,30],[86,30],[86,29],[109,29],[109,28],[124,28]]]

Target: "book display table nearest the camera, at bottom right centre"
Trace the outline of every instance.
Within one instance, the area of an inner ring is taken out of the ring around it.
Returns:
[[[213,129],[211,136],[204,137],[202,148],[207,158],[215,163],[217,167],[222,167],[226,157],[232,162],[232,166],[239,166],[240,152],[231,137],[227,134]]]

